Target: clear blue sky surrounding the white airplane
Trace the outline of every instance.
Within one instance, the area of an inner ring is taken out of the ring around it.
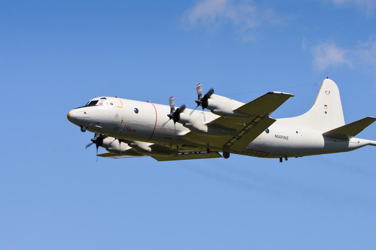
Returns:
[[[96,163],[93,134],[66,119],[95,96],[195,107],[198,82],[227,95],[327,76],[346,123],[376,116],[374,1],[1,6],[0,249],[374,249],[374,147],[282,164]],[[272,116],[307,111],[309,87],[288,89],[296,96]],[[359,137],[376,140],[376,125]]]

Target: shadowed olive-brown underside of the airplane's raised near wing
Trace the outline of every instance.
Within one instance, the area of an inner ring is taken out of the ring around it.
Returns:
[[[288,98],[294,95],[283,92],[268,92],[265,95],[250,101],[243,106],[233,110],[238,117],[218,117],[207,125],[214,127],[222,127],[234,131],[232,136],[224,137],[205,137],[207,142],[212,145],[220,145],[223,148],[230,148],[236,151],[243,149],[258,137],[262,131],[267,129],[276,120],[269,116]],[[189,139],[195,141],[203,141],[202,136],[190,133],[187,135]]]

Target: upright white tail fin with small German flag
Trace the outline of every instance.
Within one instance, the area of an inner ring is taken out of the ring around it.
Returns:
[[[326,132],[345,125],[340,91],[337,84],[326,78],[321,83],[320,91],[312,108],[301,116],[280,119],[285,122]]]

